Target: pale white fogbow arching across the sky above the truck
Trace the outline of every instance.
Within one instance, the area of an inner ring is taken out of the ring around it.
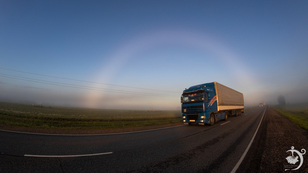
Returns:
[[[222,41],[221,41],[222,42]],[[141,51],[150,50],[151,48],[161,44],[183,44],[193,48],[200,49],[204,53],[211,52],[215,54],[219,61],[228,64],[234,69],[232,73],[237,74],[240,80],[253,84],[251,74],[245,70],[244,65],[238,61],[238,55],[228,49],[227,46],[221,44],[218,39],[214,39],[210,35],[181,31],[181,30],[159,30],[154,32],[143,33],[137,35],[133,39],[126,41],[122,46],[118,47],[109,56],[109,63],[104,64],[98,71],[96,82],[108,83],[116,76],[118,71],[130,60],[134,55]],[[238,68],[236,68],[238,67]],[[93,87],[99,87],[95,84]],[[89,91],[85,97],[87,107],[99,107],[101,103],[98,101],[104,97],[104,92]]]

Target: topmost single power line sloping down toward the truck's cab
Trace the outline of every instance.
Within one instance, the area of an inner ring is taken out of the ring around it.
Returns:
[[[0,69],[5,69],[5,68],[0,68]],[[142,90],[151,90],[151,91],[162,91],[162,92],[170,92],[170,93],[180,93],[180,92],[176,92],[176,91],[155,90],[155,89],[148,89],[148,88],[138,88],[138,87],[124,86],[124,85],[114,85],[114,84],[92,82],[92,81],[86,81],[86,80],[71,79],[71,78],[66,78],[66,77],[44,75],[44,74],[38,74],[38,73],[26,72],[26,71],[14,70],[14,69],[5,69],[5,70],[34,74],[34,75],[40,75],[40,76],[46,76],[46,77],[53,77],[53,78],[59,78],[59,79],[74,80],[74,81],[79,81],[79,82],[95,83],[95,84],[101,84],[101,85],[110,85],[110,86],[126,87],[126,88],[142,89]]]

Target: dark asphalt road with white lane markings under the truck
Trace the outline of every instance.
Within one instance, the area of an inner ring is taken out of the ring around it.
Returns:
[[[1,173],[230,173],[266,107],[214,126],[183,125],[112,135],[0,131]]]

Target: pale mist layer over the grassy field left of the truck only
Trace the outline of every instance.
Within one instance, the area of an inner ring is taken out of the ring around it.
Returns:
[[[87,107],[103,109],[181,110],[180,97],[113,94],[88,90],[52,90],[30,86],[1,84],[0,101],[46,106]],[[3,87],[3,85],[7,85]]]

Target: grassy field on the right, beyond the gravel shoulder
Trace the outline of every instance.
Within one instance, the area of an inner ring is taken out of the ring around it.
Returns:
[[[308,132],[308,110],[305,105],[288,105],[286,110],[273,107],[279,114],[287,117],[298,127]]]

